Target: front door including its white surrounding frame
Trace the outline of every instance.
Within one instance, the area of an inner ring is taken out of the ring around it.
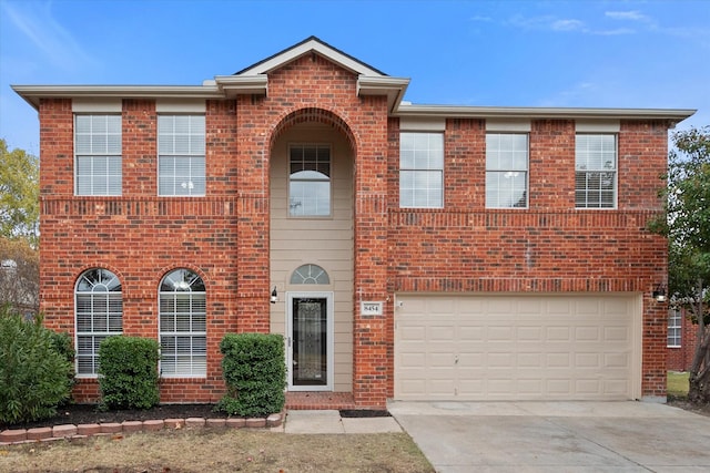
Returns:
[[[333,389],[332,292],[288,294],[287,364],[291,391]]]

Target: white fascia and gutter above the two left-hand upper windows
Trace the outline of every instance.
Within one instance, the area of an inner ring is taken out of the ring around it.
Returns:
[[[36,110],[40,99],[224,99],[216,85],[12,85]]]

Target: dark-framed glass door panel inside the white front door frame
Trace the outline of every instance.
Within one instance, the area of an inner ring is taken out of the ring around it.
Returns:
[[[293,299],[293,384],[327,384],[327,299]]]

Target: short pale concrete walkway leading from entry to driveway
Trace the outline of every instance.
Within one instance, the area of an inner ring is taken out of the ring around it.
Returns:
[[[338,411],[288,411],[285,433],[387,433],[402,432],[394,418],[341,418]]]

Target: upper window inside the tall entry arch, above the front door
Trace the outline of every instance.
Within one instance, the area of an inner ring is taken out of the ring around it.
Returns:
[[[288,150],[288,215],[331,215],[331,146],[291,145]]]

